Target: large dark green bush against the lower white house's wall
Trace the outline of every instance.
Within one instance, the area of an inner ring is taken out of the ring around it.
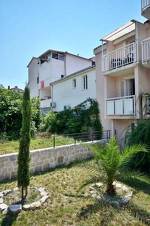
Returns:
[[[73,134],[99,131],[102,136],[102,125],[99,119],[98,104],[88,99],[74,109],[53,113],[49,112],[42,120],[42,131],[57,134]]]

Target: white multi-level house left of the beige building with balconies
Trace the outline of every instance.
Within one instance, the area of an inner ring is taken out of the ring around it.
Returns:
[[[28,83],[31,97],[39,97],[40,107],[46,112],[49,110],[63,110],[65,106],[72,107],[75,104],[80,104],[83,97],[86,96],[96,97],[96,94],[93,95],[92,93],[91,95],[90,93],[90,86],[93,83],[88,83],[87,95],[84,95],[84,93],[79,95],[79,81],[76,81],[76,87],[72,85],[73,83],[75,86],[75,80],[72,81],[72,77],[80,77],[82,70],[85,70],[85,72],[87,70],[87,76],[90,77],[89,68],[93,67],[94,64],[92,58],[87,59],[72,53],[56,50],[48,50],[39,57],[33,57],[28,64]],[[94,74],[92,78],[94,81],[95,77],[96,75]],[[53,83],[57,80],[58,83]]]

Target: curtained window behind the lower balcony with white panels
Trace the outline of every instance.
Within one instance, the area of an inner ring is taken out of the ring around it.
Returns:
[[[121,96],[135,95],[135,80],[125,79],[121,82]]]

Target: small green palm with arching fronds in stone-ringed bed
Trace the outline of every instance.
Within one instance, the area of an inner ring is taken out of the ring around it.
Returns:
[[[115,180],[122,176],[131,176],[131,170],[128,167],[129,161],[137,153],[144,151],[144,147],[134,145],[125,148],[122,152],[115,138],[111,138],[105,146],[92,145],[89,148],[94,152],[96,166],[92,168],[94,176],[88,179],[80,189],[91,183],[104,181],[106,183],[106,193],[114,195],[116,188],[113,184]]]

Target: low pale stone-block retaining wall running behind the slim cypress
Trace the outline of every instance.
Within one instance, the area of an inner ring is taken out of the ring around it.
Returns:
[[[96,141],[97,143],[100,141]],[[91,142],[88,142],[91,143]],[[0,181],[10,180],[17,175],[17,153],[0,155]],[[75,161],[89,159],[92,152],[84,145],[65,145],[31,151],[31,174],[44,172]]]

